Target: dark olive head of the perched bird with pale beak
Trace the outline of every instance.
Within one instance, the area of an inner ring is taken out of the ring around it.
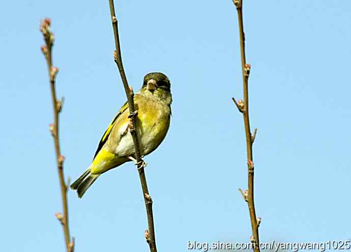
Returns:
[[[170,104],[170,82],[163,73],[148,73],[144,77],[141,90],[145,95],[151,95]]]

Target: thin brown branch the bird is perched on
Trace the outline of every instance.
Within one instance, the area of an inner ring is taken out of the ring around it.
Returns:
[[[154,217],[153,217],[153,211],[152,211],[152,199],[149,195],[148,184],[147,184],[147,181],[145,178],[145,172],[144,172],[145,162],[141,159],[140,145],[139,145],[139,141],[138,141],[138,135],[136,133],[137,131],[135,129],[135,126],[136,126],[135,119],[137,118],[138,111],[135,110],[135,108],[134,108],[133,88],[128,85],[128,81],[127,81],[126,74],[124,72],[124,68],[123,68],[123,64],[122,64],[120,38],[119,38],[119,33],[118,33],[118,21],[116,19],[116,15],[115,15],[115,11],[114,11],[113,0],[109,0],[109,6],[110,6],[112,27],[113,27],[113,34],[114,34],[114,43],[115,43],[115,48],[116,48],[114,51],[114,62],[116,63],[118,70],[120,71],[124,90],[126,92],[127,99],[128,99],[129,118],[130,118],[129,130],[130,130],[130,133],[131,133],[132,138],[133,138],[134,151],[135,151],[134,156],[135,156],[136,164],[138,167],[140,183],[141,183],[141,188],[142,188],[142,194],[144,197],[145,207],[146,207],[147,216],[148,216],[149,229],[145,231],[145,238],[150,246],[150,251],[157,252],[156,240],[155,240],[155,230],[154,230]]]

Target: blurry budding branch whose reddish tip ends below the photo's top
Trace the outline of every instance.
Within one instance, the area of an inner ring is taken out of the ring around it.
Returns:
[[[62,98],[61,100],[57,100],[56,98],[55,79],[56,79],[56,74],[58,72],[58,68],[52,66],[52,46],[53,46],[54,37],[53,37],[53,33],[50,32],[49,27],[50,27],[50,19],[45,18],[44,20],[41,21],[40,31],[43,34],[44,41],[45,41],[45,45],[41,46],[41,50],[45,56],[46,63],[48,66],[51,98],[52,98],[52,106],[53,106],[53,123],[49,125],[49,130],[51,132],[53,142],[54,142],[54,147],[55,147],[57,172],[58,172],[58,178],[60,179],[61,197],[62,197],[62,205],[63,205],[63,214],[56,213],[56,217],[61,222],[61,225],[64,230],[66,250],[67,252],[73,252],[74,238],[72,238],[72,241],[71,241],[69,223],[68,223],[67,185],[65,183],[64,167],[63,167],[65,157],[61,155],[60,139],[58,138],[58,126],[59,126],[58,114],[60,114],[61,112],[64,98]]]

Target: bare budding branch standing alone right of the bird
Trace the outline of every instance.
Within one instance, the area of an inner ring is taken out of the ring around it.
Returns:
[[[254,191],[253,191],[253,175],[254,175],[254,164],[252,157],[252,144],[256,137],[257,129],[251,134],[250,130],[250,118],[249,118],[249,91],[248,91],[248,79],[250,74],[250,64],[246,64],[245,57],[245,33],[243,25],[243,0],[232,0],[235,4],[238,12],[238,23],[239,23],[239,34],[240,34],[240,54],[241,54],[241,66],[243,75],[243,91],[244,91],[244,101],[239,100],[238,102],[232,98],[239,111],[243,114],[244,125],[245,125],[245,136],[246,136],[246,152],[247,152],[247,167],[248,167],[248,189],[243,192],[244,200],[247,202],[250,213],[252,236],[251,242],[254,243],[254,251],[259,251],[259,236],[258,236],[258,226],[261,218],[256,218],[255,204],[254,204]]]

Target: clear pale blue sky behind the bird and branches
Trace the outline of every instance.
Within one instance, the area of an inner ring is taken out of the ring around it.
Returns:
[[[49,4],[48,4],[49,3]],[[187,241],[249,241],[237,13],[226,1],[115,1],[130,85],[171,81],[171,126],[146,175],[159,251]],[[351,238],[350,1],[244,2],[255,203],[260,240]],[[51,97],[39,32],[52,19],[65,175],[90,165],[125,102],[108,1],[6,2],[0,10],[0,250],[64,251]],[[76,251],[148,251],[140,181],[124,164],[78,199],[68,192]]]

